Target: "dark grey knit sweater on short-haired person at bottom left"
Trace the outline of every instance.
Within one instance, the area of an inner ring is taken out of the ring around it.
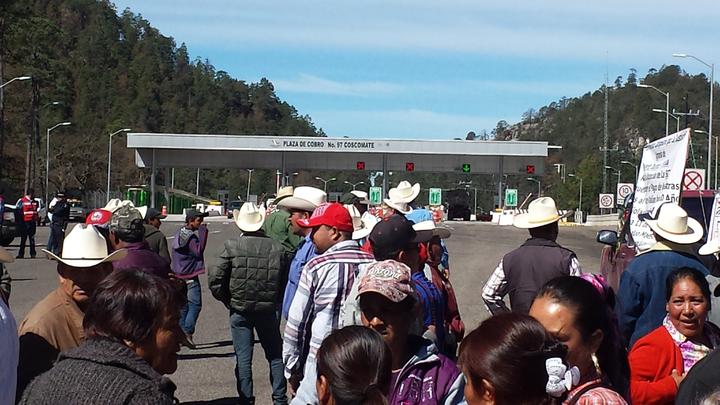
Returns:
[[[173,404],[175,388],[123,343],[90,338],[61,353],[20,404]]]

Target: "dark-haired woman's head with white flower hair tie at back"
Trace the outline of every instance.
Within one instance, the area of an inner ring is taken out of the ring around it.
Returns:
[[[483,321],[460,345],[469,405],[557,404],[577,383],[566,348],[534,318],[503,313]]]

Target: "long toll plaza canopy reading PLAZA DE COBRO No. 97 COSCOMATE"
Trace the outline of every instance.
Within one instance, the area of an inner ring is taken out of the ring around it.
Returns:
[[[544,173],[547,142],[129,133],[138,167]],[[387,178],[387,176],[383,176]],[[383,185],[386,189],[386,185]]]

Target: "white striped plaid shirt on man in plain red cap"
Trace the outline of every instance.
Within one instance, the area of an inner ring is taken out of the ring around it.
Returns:
[[[336,244],[303,268],[290,305],[283,337],[285,377],[314,359],[325,336],[340,327],[340,309],[355,281],[358,266],[374,262],[356,241]]]

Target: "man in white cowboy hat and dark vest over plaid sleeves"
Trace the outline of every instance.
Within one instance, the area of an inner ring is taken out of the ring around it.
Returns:
[[[530,238],[503,257],[483,287],[483,301],[491,314],[519,312],[527,314],[535,295],[546,282],[560,276],[582,273],[575,252],[556,240],[559,215],[555,200],[540,197],[528,205],[528,212],[515,215],[513,225],[527,229]],[[510,294],[510,309],[503,298]]]

